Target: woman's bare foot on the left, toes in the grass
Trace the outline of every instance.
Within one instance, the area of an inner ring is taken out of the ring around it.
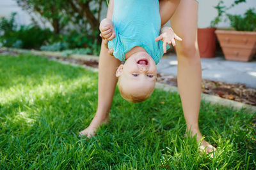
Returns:
[[[84,129],[83,131],[79,132],[79,136],[86,136],[87,138],[91,138],[92,136],[95,136],[95,133],[97,132],[97,128],[100,127],[102,124],[107,124],[109,122],[109,114],[106,115],[106,117],[97,117],[97,114],[93,118],[91,124]]]

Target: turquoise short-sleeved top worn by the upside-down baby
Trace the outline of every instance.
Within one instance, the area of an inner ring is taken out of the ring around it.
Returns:
[[[163,56],[163,41],[155,41],[161,29],[158,0],[114,0],[113,24],[116,37],[108,41],[116,59],[142,46],[157,64]],[[169,47],[169,46],[168,46]]]

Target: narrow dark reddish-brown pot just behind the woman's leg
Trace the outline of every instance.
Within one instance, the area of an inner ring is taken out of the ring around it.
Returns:
[[[201,58],[215,57],[216,50],[216,35],[214,31],[216,28],[202,28],[197,29],[198,48]]]

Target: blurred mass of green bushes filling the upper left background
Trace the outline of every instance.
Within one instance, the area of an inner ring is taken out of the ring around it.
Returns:
[[[32,25],[17,25],[15,13],[0,19],[1,46],[62,51],[81,48],[80,53],[99,55],[99,23],[103,0],[15,0],[28,11]],[[106,8],[105,8],[106,9]],[[52,25],[40,27],[36,15]],[[76,49],[77,51],[77,49]]]

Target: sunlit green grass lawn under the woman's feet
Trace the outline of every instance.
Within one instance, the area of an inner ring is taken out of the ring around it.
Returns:
[[[211,158],[185,138],[177,93],[143,103],[116,90],[109,125],[77,134],[97,109],[97,73],[44,57],[0,55],[0,169],[255,169],[256,113],[201,103]]]

